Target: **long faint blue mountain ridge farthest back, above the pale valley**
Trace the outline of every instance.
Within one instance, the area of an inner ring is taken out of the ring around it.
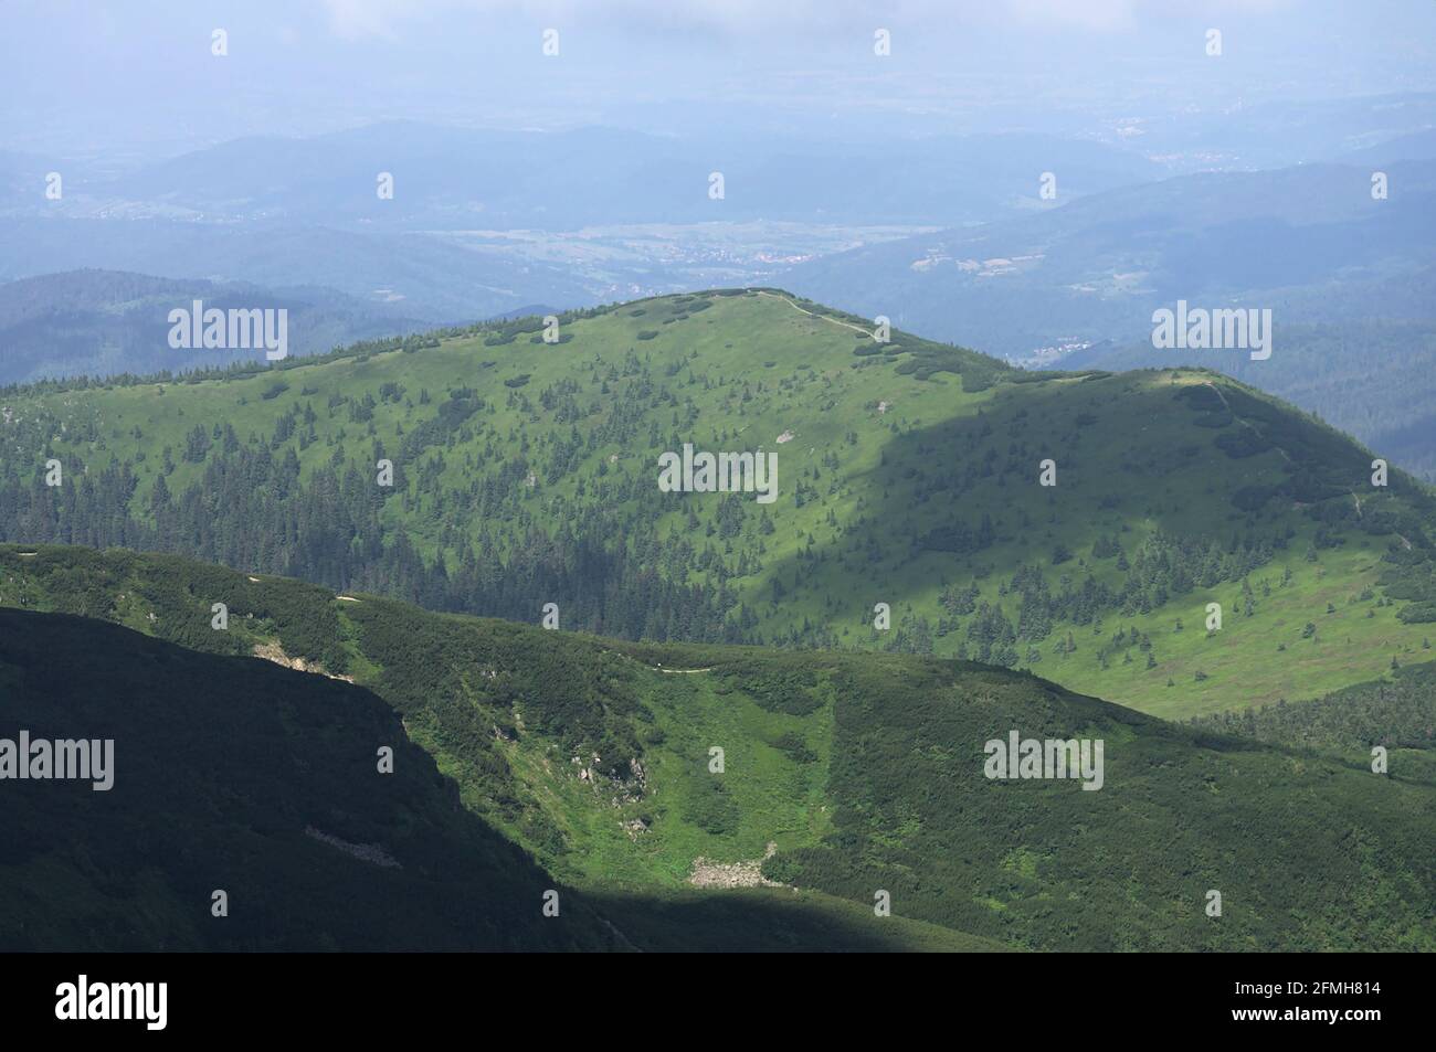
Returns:
[[[709,174],[722,172],[721,199]],[[1071,194],[1156,178],[1144,156],[1055,135],[649,135],[511,132],[388,121],[312,138],[256,136],[184,154],[75,194],[214,221],[424,230],[577,230],[754,218],[954,224],[1040,204],[1044,171]],[[393,194],[376,194],[381,172]]]

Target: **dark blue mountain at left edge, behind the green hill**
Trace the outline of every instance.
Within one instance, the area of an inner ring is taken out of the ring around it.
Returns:
[[[383,304],[332,288],[261,288],[109,270],[45,274],[0,284],[0,383],[62,376],[182,372],[264,357],[253,350],[175,350],[169,311],[238,307],[287,311],[290,354],[428,327]],[[202,362],[197,360],[202,354]]]

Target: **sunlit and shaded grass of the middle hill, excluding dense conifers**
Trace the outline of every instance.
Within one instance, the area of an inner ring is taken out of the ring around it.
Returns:
[[[854,354],[854,349],[875,350],[854,326],[863,327],[862,319],[774,291],[665,297],[597,317],[569,317],[563,333],[572,340],[557,346],[536,343],[528,333],[490,346],[480,333],[412,354],[286,363],[281,372],[241,379],[19,392],[0,400],[14,421],[7,448],[33,459],[37,471],[39,431],[73,471],[142,456],[134,498],[139,514],[148,508],[164,448],[174,449],[177,462],[168,476],[171,492],[200,478],[202,465],[180,456],[195,423],[227,422],[241,441],[264,441],[279,415],[312,403],[317,441],[299,454],[303,475],[327,465],[336,449],[372,475],[373,441],[392,455],[404,435],[435,418],[448,390],[474,388],[488,408],[471,432],[451,433],[445,445],[402,465],[411,489],[385,505],[391,525],[402,522],[426,557],[442,550],[452,561],[445,531],[472,538],[487,530],[503,551],[520,544],[527,518],[551,531],[595,504],[635,517],[658,507],[658,537],[685,538],[699,551],[711,547],[729,570],[742,554],[760,564],[728,587],[754,613],[752,637],[764,642],[781,642],[808,626],[808,637],[817,633],[837,646],[883,647],[918,617],[931,623],[941,616],[943,586],[969,581],[981,588],[981,600],[1001,604],[1015,621],[1017,601],[999,594],[999,586],[1018,567],[1041,567],[1054,591],[1061,573],[1078,584],[1088,573],[1120,584],[1110,560],[1090,555],[1099,535],[1119,537],[1129,555],[1156,531],[1200,535],[1223,547],[1236,534],[1281,538],[1285,547],[1249,576],[1258,596],[1249,616],[1236,609],[1239,584],[1226,581],[1173,596],[1149,613],[1109,610],[1096,626],[1058,623],[1035,653],[1027,643],[1018,646],[1022,666],[1167,716],[1311,698],[1383,675],[1393,656],[1404,662],[1419,653],[1429,630],[1399,621],[1397,607],[1380,603],[1379,590],[1361,598],[1377,586],[1381,557],[1396,538],[1360,528],[1351,492],[1369,511],[1383,504],[1403,512],[1419,507],[1422,521],[1430,517],[1429,498],[1400,475],[1393,479],[1399,497],[1371,491],[1370,455],[1335,432],[1215,373],[1051,375],[1017,383],[991,359],[906,333],[895,333],[900,350],[887,357]],[[648,334],[655,336],[643,339]],[[955,372],[932,372],[945,365]],[[521,388],[505,386],[523,376],[528,380]],[[276,379],[289,386],[266,399]],[[564,382],[576,389],[559,390]],[[399,383],[404,393],[383,400],[383,383]],[[1200,386],[1209,398],[1219,389],[1235,419],[1200,426],[1212,412],[1176,396]],[[550,388],[559,392],[557,408],[573,395],[579,419],[560,422],[559,412],[541,403],[540,393]],[[421,390],[429,392],[428,405],[421,405]],[[330,399],[358,402],[366,393],[378,403],[372,422],[350,422],[343,403],[326,412]],[[879,402],[887,403],[886,410]],[[619,413],[632,422],[629,441],[584,448],[572,465],[554,468],[559,441],[572,432],[582,439]],[[1267,435],[1262,451],[1231,456],[1218,448],[1223,435],[1254,428]],[[775,445],[784,432],[794,438]],[[66,438],[80,435],[88,438]],[[617,495],[616,479],[656,478],[658,454],[684,441],[714,451],[777,448],[781,495],[768,509],[775,530],[760,530],[763,508],[747,498],[740,532],[724,538],[709,532],[718,497],[661,497],[656,485],[643,499]],[[297,439],[284,445],[297,449]],[[475,478],[495,479],[520,448],[534,487],[520,489],[514,479],[504,485],[517,494],[516,507],[526,518],[480,521],[452,507],[441,511],[432,491],[421,494],[421,474],[454,492],[467,491]],[[434,456],[439,452],[442,466]],[[830,455],[836,466],[824,464]],[[1038,461],[1048,456],[1058,464],[1054,489],[1037,485]],[[1321,548],[1314,560],[1307,557],[1317,530],[1311,501],[1281,492],[1251,512],[1231,501],[1244,488],[1290,491],[1295,471],[1321,476],[1325,499],[1317,511],[1333,507],[1344,517],[1330,524],[1340,547]],[[794,501],[800,481],[808,488],[803,507]],[[992,547],[968,554],[925,547],[933,530],[954,522],[975,527],[984,512],[995,525]],[[698,530],[689,527],[689,514]],[[640,532],[635,530],[629,543]],[[1058,544],[1074,555],[1060,568],[1051,565]],[[715,583],[692,560],[662,570]],[[1282,583],[1287,571],[1291,577]],[[774,601],[774,581],[785,590],[781,601]],[[1265,586],[1271,594],[1264,594]],[[534,596],[534,617],[544,601],[563,598]],[[892,604],[895,631],[873,631],[877,601]],[[1208,601],[1225,609],[1225,629],[1212,637],[1198,629]],[[1331,614],[1328,603],[1335,607]],[[1182,633],[1175,631],[1179,619],[1186,626]],[[1313,639],[1301,634],[1308,621],[1318,627]],[[956,654],[965,627],[936,637],[933,653]],[[1146,667],[1144,653],[1130,664],[1126,654],[1099,656],[1119,627],[1153,639],[1155,667]],[[1077,649],[1054,652],[1054,642],[1068,631]],[[1285,649],[1278,650],[1281,644]]]

